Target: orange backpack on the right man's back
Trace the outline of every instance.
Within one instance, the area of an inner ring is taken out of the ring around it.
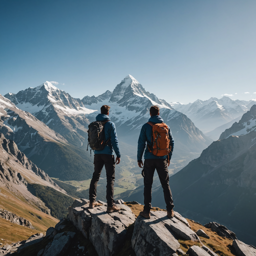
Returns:
[[[147,122],[152,126],[152,136],[151,136],[151,147],[148,147],[149,152],[156,156],[167,155],[170,152],[170,139],[168,134],[168,126],[164,123],[152,123]]]

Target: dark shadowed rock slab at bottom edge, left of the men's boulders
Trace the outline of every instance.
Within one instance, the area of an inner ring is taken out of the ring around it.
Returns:
[[[62,235],[58,239],[55,239],[51,242],[48,248],[45,247],[45,250],[42,256],[60,256],[67,249],[70,244],[71,238],[67,235]]]

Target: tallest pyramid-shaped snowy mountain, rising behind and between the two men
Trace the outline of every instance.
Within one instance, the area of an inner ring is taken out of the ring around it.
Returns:
[[[140,128],[150,117],[151,105],[158,105],[160,116],[170,126],[177,157],[181,152],[183,154],[199,153],[210,143],[210,139],[204,136],[186,115],[174,110],[165,100],[158,99],[154,94],[145,91],[131,75],[127,75],[116,85],[112,94],[108,93],[108,97],[104,98],[102,101],[92,102],[91,100],[90,105],[84,105],[86,108],[96,110],[87,115],[88,119],[94,120],[101,105],[109,105],[109,117],[115,123],[118,137],[128,144],[137,145]],[[86,100],[88,99],[86,97]]]

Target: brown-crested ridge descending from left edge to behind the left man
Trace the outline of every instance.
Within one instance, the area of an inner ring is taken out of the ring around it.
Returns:
[[[88,153],[70,145],[63,136],[31,113],[18,109],[2,95],[0,132],[7,139],[14,140],[19,150],[51,177],[79,179],[88,178],[92,173],[92,160],[87,158]]]

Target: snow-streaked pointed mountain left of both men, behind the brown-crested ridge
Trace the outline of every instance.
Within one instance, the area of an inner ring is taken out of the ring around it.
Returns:
[[[88,120],[93,112],[83,106],[80,99],[71,97],[46,81],[35,88],[27,88],[17,94],[4,95],[18,108],[34,115],[49,128],[55,130],[70,143],[82,145],[86,138]]]

